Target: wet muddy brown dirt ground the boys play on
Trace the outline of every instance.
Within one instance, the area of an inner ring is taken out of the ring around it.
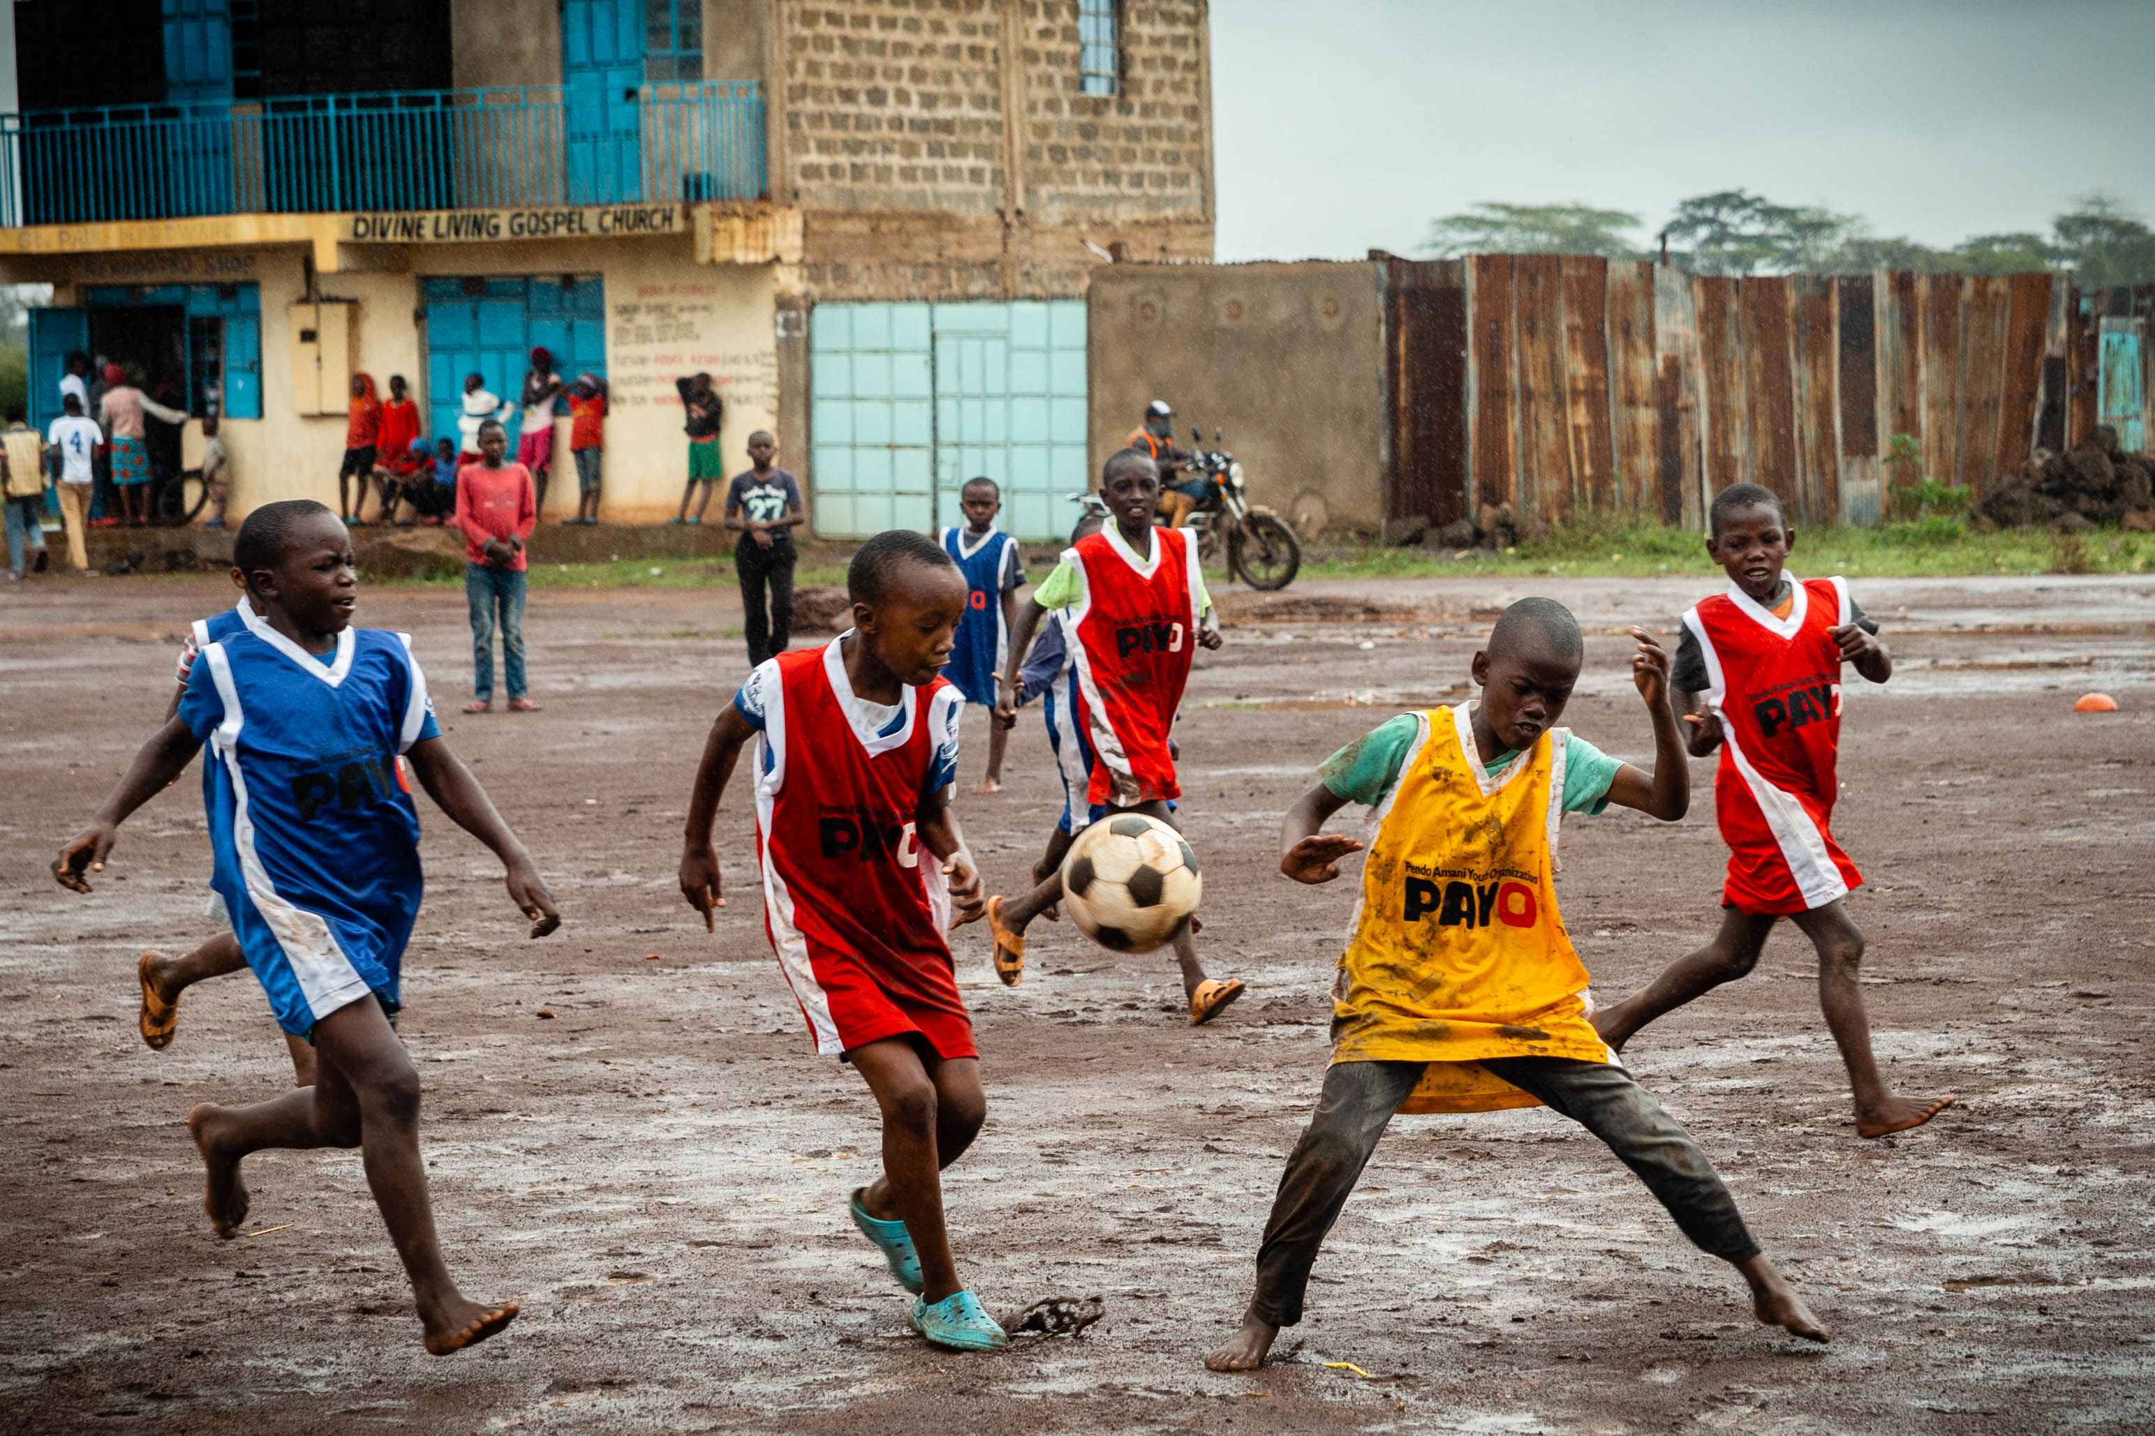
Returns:
[[[1569,721],[1646,756],[1623,622],[1696,581],[1547,581],[1588,622]],[[1166,956],[1043,926],[1026,984],[959,941],[989,1122],[953,1169],[961,1270],[996,1309],[1101,1294],[1082,1339],[922,1348],[845,1219],[877,1169],[866,1089],[812,1057],[756,917],[748,816],[720,820],[733,906],[675,889],[685,786],[746,672],[737,607],[694,590],[541,592],[545,713],[457,717],[463,599],[366,594],[409,629],[453,747],[539,855],[567,924],[530,943],[491,857],[427,807],[429,902],[403,1038],[465,1290],[522,1320],[455,1358],[418,1343],[351,1152],[250,1158],[248,1236],[200,1212],[183,1115],[289,1083],[248,975],[136,1038],[136,954],[185,947],[209,844],[194,777],[123,831],[93,898],[45,874],[155,726],[215,579],[0,596],[0,1430],[9,1432],[2116,1432],[2155,1399],[2155,682],[2146,579],[1858,583],[1901,674],[1851,678],[1836,829],[1868,876],[1866,997],[1890,1079],[1957,1092],[1860,1141],[1782,930],[1756,975],[1649,1029],[1640,1079],[1720,1163],[1832,1346],[1752,1324],[1741,1283],[1547,1111],[1401,1117],[1256,1376],[1205,1350],[1248,1296],[1280,1158],[1325,1061],[1351,883],[1274,870],[1327,751],[1461,695],[1511,592],[1308,583],[1226,601],[1181,728],[1207,868],[1207,962],[1250,982],[1190,1029]],[[2075,717],[2086,689],[2123,713]],[[983,726],[968,719],[968,782]],[[1711,766],[1692,816],[1571,818],[1565,913],[1601,995],[1715,921]],[[1054,818],[1026,713],[1000,797],[961,803],[991,885]],[[539,1016],[545,1008],[554,1020]],[[1353,1363],[1360,1374],[1345,1365]],[[1366,1376],[1364,1376],[1366,1374]]]

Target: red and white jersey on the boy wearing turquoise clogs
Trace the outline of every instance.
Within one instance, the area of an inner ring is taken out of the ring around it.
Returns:
[[[937,678],[903,689],[896,708],[864,702],[840,642],[778,654],[735,700],[763,728],[763,926],[819,1053],[918,1031],[970,1057],[944,937],[950,885],[914,833],[922,794],[955,771],[963,700]]]

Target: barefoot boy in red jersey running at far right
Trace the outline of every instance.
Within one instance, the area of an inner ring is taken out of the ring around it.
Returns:
[[[1855,1132],[1886,1137],[1922,1126],[1952,1096],[1903,1098],[1879,1079],[1858,986],[1864,934],[1843,904],[1864,878],[1827,827],[1840,792],[1840,665],[1886,682],[1892,657],[1847,579],[1782,575],[1795,530],[1771,491],[1724,489],[1709,525],[1707,553],[1730,583],[1683,616],[1670,687],[1692,726],[1692,756],[1722,749],[1713,779],[1713,809],[1728,842],[1722,930],[1642,992],[1597,1012],[1595,1027],[1623,1051],[1653,1018],[1750,973],[1767,932],[1786,917],[1819,949],[1819,1008],[1849,1068]]]

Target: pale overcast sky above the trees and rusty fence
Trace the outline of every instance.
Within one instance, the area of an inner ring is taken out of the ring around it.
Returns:
[[[2155,0],[1211,0],[1211,39],[1222,261],[1737,187],[1933,245],[2090,189],[2155,222]]]

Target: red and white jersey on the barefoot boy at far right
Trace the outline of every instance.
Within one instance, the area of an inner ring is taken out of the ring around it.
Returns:
[[[1683,624],[1707,661],[1707,704],[1722,719],[1713,805],[1728,842],[1722,902],[1743,913],[1804,913],[1862,883],[1830,820],[1840,747],[1840,644],[1847,579],[1791,577],[1786,618],[1735,583]]]

